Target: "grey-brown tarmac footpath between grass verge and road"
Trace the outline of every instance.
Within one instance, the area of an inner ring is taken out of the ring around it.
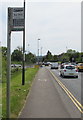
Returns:
[[[18,118],[71,118],[45,68],[38,71]]]

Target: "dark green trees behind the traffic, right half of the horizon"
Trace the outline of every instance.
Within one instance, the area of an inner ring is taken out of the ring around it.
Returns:
[[[69,49],[66,53],[52,55],[52,53],[48,50],[47,55],[43,57],[43,61],[82,62],[83,53],[79,53],[76,50]]]

